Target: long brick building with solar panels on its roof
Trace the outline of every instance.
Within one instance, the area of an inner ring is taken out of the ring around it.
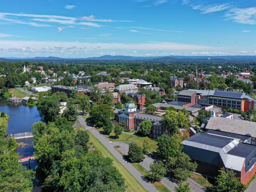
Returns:
[[[188,91],[196,91],[198,104],[210,104],[222,109],[233,108],[242,111],[256,109],[256,99],[246,93],[196,89],[188,89]]]

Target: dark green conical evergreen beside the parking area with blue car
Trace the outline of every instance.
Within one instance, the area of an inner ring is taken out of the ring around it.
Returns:
[[[143,159],[145,159],[145,157],[143,156],[142,148],[139,145],[137,145],[136,143],[129,145],[128,159],[132,163],[135,163],[135,162],[139,163]]]

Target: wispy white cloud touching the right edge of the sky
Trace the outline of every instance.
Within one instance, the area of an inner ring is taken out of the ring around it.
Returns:
[[[225,14],[227,20],[233,20],[236,23],[256,24],[256,7],[249,7],[244,9],[234,8]]]

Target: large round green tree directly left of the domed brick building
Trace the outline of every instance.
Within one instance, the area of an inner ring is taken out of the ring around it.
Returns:
[[[90,111],[90,116],[96,124],[96,127],[102,127],[104,125],[105,119],[114,117],[114,111],[110,106],[106,104],[94,105]]]

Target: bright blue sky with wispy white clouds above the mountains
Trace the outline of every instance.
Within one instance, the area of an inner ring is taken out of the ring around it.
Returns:
[[[256,55],[255,0],[0,0],[0,57]]]

